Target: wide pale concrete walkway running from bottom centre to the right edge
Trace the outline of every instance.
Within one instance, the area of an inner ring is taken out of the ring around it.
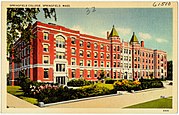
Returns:
[[[48,106],[47,108],[124,108],[130,105],[159,99],[160,96],[172,96],[172,86],[165,85],[165,88],[66,104],[52,105]]]

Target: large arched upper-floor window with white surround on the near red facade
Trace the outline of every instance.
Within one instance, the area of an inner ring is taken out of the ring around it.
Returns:
[[[65,48],[65,38],[61,35],[56,37],[56,47]]]

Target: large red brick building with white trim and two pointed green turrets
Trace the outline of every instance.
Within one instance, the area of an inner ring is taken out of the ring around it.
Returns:
[[[20,70],[33,81],[60,84],[78,78],[96,81],[101,70],[112,79],[167,76],[166,52],[145,48],[144,41],[139,43],[135,33],[130,42],[122,41],[114,26],[106,38],[99,38],[36,22],[33,34],[36,38],[28,43],[21,39],[14,43],[21,63],[10,61],[12,85]]]

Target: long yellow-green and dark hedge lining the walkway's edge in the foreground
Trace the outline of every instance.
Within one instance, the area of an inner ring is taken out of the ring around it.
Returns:
[[[90,85],[88,87],[82,87],[78,89],[72,89],[61,86],[58,88],[42,88],[38,93],[36,92],[35,97],[38,99],[39,102],[53,103],[71,99],[79,99],[114,93],[116,93],[116,90],[109,89],[107,87],[101,87],[98,85]]]

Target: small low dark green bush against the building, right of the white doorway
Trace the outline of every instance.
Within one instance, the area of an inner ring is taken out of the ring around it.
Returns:
[[[67,82],[67,86],[72,86],[72,87],[81,87],[91,84],[94,84],[94,81],[87,81],[85,79],[73,79]]]

